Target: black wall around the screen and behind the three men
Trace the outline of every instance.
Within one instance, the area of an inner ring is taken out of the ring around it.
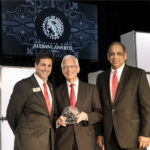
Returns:
[[[98,6],[99,62],[79,60],[81,71],[79,78],[87,82],[87,74],[105,70],[107,48],[113,41],[120,41],[120,35],[132,30],[150,32],[149,1],[86,1]],[[92,13],[92,12],[91,12]],[[55,86],[64,82],[60,68],[61,59],[56,58],[50,80]],[[11,66],[33,66],[34,58],[6,57],[0,53],[0,64]]]

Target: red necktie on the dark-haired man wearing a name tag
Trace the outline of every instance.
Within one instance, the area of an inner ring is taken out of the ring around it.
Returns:
[[[49,99],[49,96],[48,96],[46,83],[43,83],[43,86],[44,86],[45,102],[46,102],[46,105],[47,105],[47,108],[48,108],[48,112],[49,112],[49,115],[50,115],[51,114],[51,104],[50,104],[50,99]]]

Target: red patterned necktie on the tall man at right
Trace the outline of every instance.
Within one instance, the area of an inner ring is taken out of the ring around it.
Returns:
[[[117,77],[117,71],[115,70],[112,78],[112,103],[114,103],[115,101],[117,87],[118,87],[118,77]]]

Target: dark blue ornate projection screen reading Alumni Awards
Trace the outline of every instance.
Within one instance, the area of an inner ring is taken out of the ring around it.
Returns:
[[[98,60],[97,6],[64,0],[2,0],[2,54],[49,51]]]

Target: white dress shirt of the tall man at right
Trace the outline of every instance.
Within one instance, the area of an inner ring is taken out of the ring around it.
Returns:
[[[122,71],[123,71],[123,68],[124,68],[125,64],[123,64],[119,69],[117,69],[117,77],[118,77],[118,84],[119,84],[119,81],[120,81],[120,78],[121,78],[121,75],[122,75]],[[112,78],[113,78],[113,75],[114,75],[114,69],[111,68],[111,73],[110,73],[110,95],[111,95],[111,101],[112,101]]]

